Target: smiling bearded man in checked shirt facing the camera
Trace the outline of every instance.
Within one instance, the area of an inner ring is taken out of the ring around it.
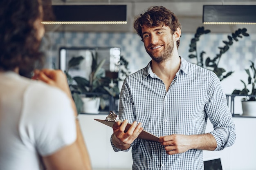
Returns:
[[[203,170],[202,150],[223,150],[236,139],[220,81],[178,55],[181,24],[170,10],[150,7],[134,28],[152,60],[124,81],[119,106],[124,122],[113,126],[112,147],[132,148],[132,170]],[[205,133],[208,118],[214,130]],[[125,132],[127,123],[132,126]],[[137,139],[143,129],[159,141]]]

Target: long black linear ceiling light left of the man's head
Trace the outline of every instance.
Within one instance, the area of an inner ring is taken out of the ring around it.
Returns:
[[[55,20],[43,24],[127,24],[126,5],[52,5]]]

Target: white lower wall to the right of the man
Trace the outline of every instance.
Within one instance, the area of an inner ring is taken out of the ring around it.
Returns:
[[[204,159],[221,158],[224,170],[256,170],[256,118],[234,117],[236,141],[222,151],[204,151]],[[213,128],[207,124],[206,132]]]

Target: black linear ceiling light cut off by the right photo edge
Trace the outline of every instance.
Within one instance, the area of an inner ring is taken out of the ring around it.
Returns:
[[[203,24],[256,24],[256,5],[204,5]]]

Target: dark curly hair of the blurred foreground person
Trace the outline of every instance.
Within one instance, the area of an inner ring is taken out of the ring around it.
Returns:
[[[20,75],[28,77],[36,64],[43,65],[43,53],[34,22],[42,17],[39,7],[49,8],[40,0],[0,1],[0,70],[19,68]]]

